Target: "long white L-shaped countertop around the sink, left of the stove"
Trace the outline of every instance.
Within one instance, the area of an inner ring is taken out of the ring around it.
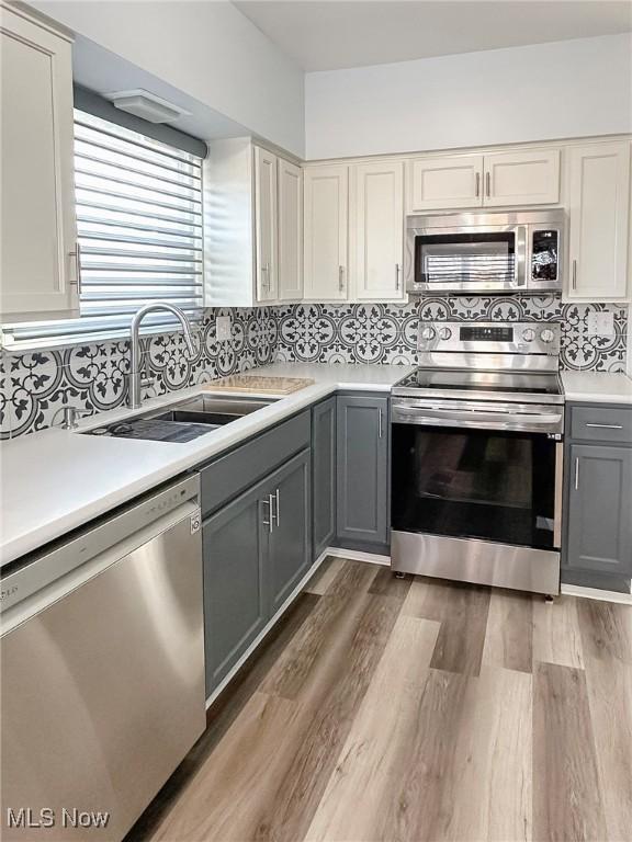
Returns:
[[[315,383],[187,443],[88,436],[58,428],[4,442],[0,447],[0,565],[211,459],[337,389],[390,391],[413,371],[415,366],[404,365],[267,365],[253,373],[311,377]],[[200,387],[171,392],[148,400],[140,411],[174,403],[200,392]],[[204,394],[213,392],[205,389]],[[249,396],[252,397],[252,392]],[[102,412],[87,419],[80,429],[135,414],[139,414],[139,410],[122,408]]]

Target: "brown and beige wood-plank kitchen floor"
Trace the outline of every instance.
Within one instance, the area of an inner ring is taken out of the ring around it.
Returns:
[[[632,607],[328,559],[132,840],[632,840]]]

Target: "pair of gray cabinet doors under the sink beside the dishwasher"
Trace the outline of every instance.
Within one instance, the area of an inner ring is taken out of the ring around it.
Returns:
[[[309,568],[311,482],[307,448],[203,523],[206,696]]]

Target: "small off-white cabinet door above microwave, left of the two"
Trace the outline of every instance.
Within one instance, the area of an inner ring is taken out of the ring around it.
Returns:
[[[483,156],[414,158],[408,170],[408,213],[483,204]]]

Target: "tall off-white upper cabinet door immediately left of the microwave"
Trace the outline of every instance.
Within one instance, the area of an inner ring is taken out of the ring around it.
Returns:
[[[360,300],[402,300],[404,163],[359,163],[352,170],[353,261]]]

